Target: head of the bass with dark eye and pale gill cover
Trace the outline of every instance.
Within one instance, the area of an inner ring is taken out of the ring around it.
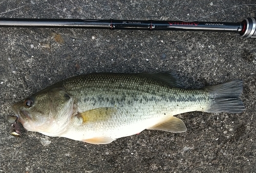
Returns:
[[[12,106],[17,121],[28,131],[57,136],[74,113],[74,98],[62,88],[47,88]]]

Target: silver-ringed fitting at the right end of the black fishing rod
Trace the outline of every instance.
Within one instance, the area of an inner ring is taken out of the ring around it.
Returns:
[[[239,36],[242,38],[256,38],[256,18],[248,17],[240,20],[242,23],[242,31]]]

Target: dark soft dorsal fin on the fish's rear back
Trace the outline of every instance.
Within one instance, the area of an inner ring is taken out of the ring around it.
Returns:
[[[138,73],[139,76],[144,76],[146,78],[151,78],[157,81],[160,81],[169,86],[173,86],[176,88],[182,87],[182,83],[180,78],[173,72],[164,71],[164,72],[143,72]]]

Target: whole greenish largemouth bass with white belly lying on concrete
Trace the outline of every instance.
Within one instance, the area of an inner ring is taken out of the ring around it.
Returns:
[[[12,110],[27,131],[108,144],[145,129],[186,132],[174,116],[185,112],[243,112],[242,91],[242,80],[185,89],[169,71],[89,73],[32,94]]]

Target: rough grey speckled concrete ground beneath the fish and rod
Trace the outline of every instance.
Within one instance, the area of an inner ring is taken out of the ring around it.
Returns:
[[[193,20],[242,1],[163,1],[161,8],[153,1],[2,0],[0,12],[26,3],[0,17],[175,20],[173,14]],[[239,6],[202,20],[236,22],[255,10]],[[0,28],[0,172],[256,172],[255,43],[232,33]],[[145,130],[107,145],[10,135],[11,105],[57,81],[89,72],[166,70],[186,88],[244,80],[245,111],[185,113],[178,117],[186,133]]]

